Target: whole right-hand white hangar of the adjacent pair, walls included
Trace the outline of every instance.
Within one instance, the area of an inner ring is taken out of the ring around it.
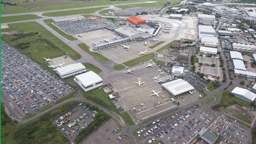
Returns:
[[[91,89],[103,86],[103,79],[92,71],[82,73],[81,75],[76,75],[74,81],[82,89],[84,89],[84,91],[89,91]]]

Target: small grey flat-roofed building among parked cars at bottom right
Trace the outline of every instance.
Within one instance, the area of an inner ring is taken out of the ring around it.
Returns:
[[[201,139],[203,139],[205,142],[209,144],[213,144],[216,142],[216,140],[219,138],[217,135],[215,135],[213,132],[210,130],[207,130],[203,127],[201,132],[199,133],[199,136]]]

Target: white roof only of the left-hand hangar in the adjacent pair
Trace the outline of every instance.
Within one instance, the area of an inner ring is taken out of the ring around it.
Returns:
[[[62,68],[57,68],[56,72],[60,75],[60,76],[64,76],[64,75],[68,75],[70,73],[74,73],[74,72],[78,72],[78,71],[82,71],[86,69],[84,65],[82,65],[82,63],[73,63],[71,65],[66,65],[63,66]]]

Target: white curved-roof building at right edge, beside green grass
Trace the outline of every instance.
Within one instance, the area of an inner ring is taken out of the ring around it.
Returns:
[[[231,94],[250,103],[254,102],[256,98],[256,94],[254,94],[253,92],[249,91],[248,89],[239,87],[235,87],[233,91],[231,91]]]

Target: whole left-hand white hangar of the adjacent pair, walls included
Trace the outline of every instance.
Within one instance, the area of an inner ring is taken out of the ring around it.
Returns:
[[[62,68],[57,68],[55,71],[60,76],[60,78],[68,78],[72,75],[87,72],[87,68],[85,68],[82,63],[73,63],[71,65],[63,66]]]

